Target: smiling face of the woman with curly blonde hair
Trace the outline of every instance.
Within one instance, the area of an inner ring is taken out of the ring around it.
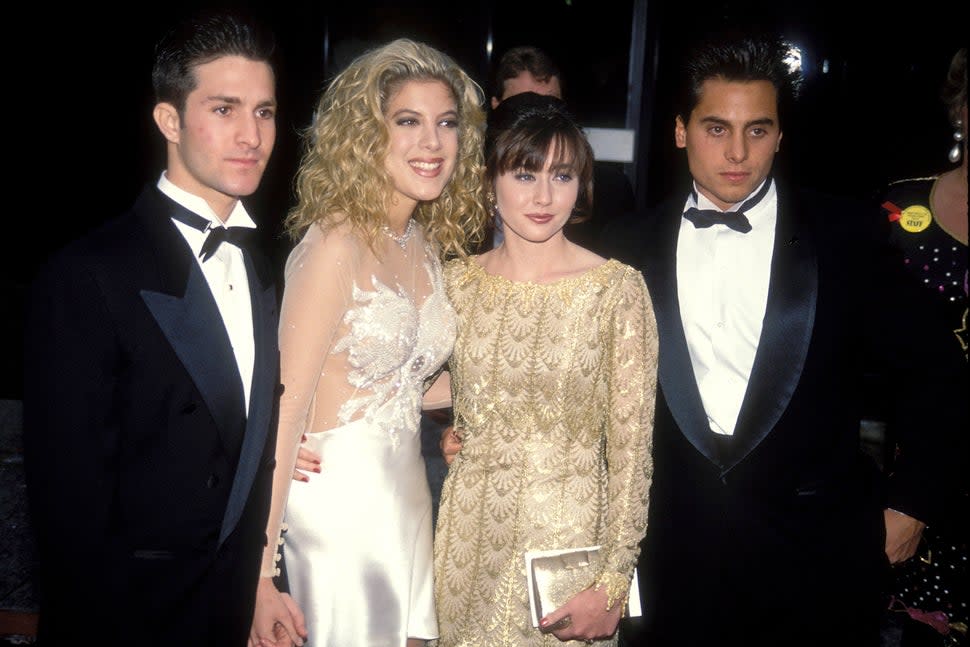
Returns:
[[[441,195],[455,171],[458,107],[441,81],[406,81],[388,101],[384,120],[393,202],[413,211]]]

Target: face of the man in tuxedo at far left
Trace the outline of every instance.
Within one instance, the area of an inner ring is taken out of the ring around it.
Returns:
[[[160,103],[155,121],[169,141],[166,175],[218,214],[253,193],[276,142],[276,82],[269,64],[224,56],[195,68],[181,117]]]

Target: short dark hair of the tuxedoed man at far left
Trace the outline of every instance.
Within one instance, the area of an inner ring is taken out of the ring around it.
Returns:
[[[203,11],[177,24],[155,45],[152,85],[156,103],[171,103],[181,116],[198,80],[195,68],[223,56],[242,56],[271,67],[273,35],[252,16],[236,11]]]

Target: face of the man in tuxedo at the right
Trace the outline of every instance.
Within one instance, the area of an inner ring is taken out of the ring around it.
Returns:
[[[690,121],[677,117],[674,129],[698,190],[721,209],[768,176],[781,135],[777,92],[768,81],[708,79]]]

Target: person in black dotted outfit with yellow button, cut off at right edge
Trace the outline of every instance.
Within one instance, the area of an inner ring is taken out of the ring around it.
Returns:
[[[940,319],[927,318],[912,331],[917,338],[942,337],[958,358],[967,361],[967,48],[953,56],[943,83],[943,106],[953,129],[951,168],[928,177],[889,184],[880,197],[890,241],[898,262],[926,290]],[[955,165],[955,166],[952,166]],[[937,325],[936,322],[940,322]],[[887,386],[884,381],[884,388]],[[966,394],[960,396],[964,399]],[[933,406],[933,405],[931,405]],[[966,436],[968,411],[947,424]],[[905,464],[906,448],[894,435],[899,421],[888,412],[885,420],[885,469],[892,475]],[[941,453],[958,447],[935,448]],[[963,451],[966,445],[963,445]],[[966,454],[963,454],[966,457]],[[966,645],[970,593],[970,469],[962,479],[940,492],[945,505],[933,517],[910,525],[905,541],[887,546],[895,563],[890,588],[890,629],[885,645],[939,647]],[[887,526],[905,519],[886,512]]]

